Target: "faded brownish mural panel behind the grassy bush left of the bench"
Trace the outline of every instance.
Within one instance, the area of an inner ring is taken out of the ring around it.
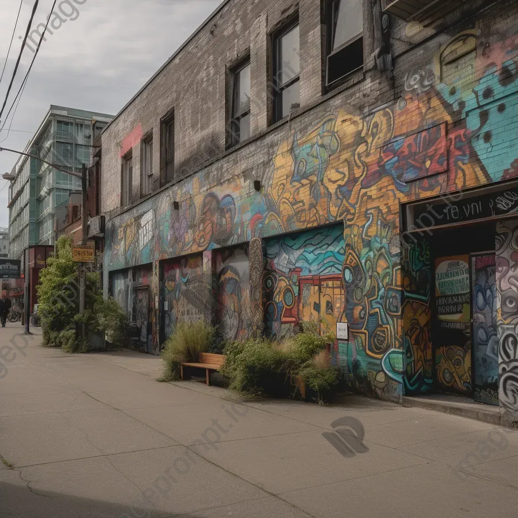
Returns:
[[[204,275],[202,254],[165,261],[163,268],[162,332],[167,339],[177,323],[207,317],[207,307],[212,306],[212,289]]]

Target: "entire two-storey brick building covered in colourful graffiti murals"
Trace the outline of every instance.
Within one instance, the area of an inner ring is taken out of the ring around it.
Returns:
[[[506,0],[224,2],[102,134],[105,283],[148,350],[201,317],[348,323],[355,389],[516,422],[517,22]]]

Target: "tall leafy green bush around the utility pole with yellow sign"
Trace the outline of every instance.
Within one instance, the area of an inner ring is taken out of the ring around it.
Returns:
[[[77,263],[72,260],[72,241],[57,240],[57,258],[51,257],[40,272],[38,313],[41,316],[43,343],[66,352],[88,352],[86,339],[76,339],[76,324],[84,323],[87,332],[106,333],[112,342],[122,344],[127,318],[113,299],[105,300],[97,290],[98,274],[87,272],[85,311],[79,314]]]

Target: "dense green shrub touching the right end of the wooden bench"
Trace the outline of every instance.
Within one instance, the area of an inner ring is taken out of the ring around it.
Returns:
[[[245,395],[272,395],[286,361],[278,344],[265,338],[228,342],[227,356],[220,372],[230,381],[229,388]]]

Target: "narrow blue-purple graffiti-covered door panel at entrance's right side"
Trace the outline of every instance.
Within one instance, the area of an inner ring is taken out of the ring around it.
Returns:
[[[496,256],[471,257],[474,398],[498,405]]]

